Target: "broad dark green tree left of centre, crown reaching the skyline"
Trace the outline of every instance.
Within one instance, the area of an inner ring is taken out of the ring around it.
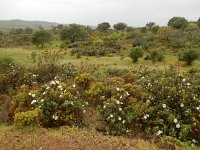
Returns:
[[[61,39],[69,40],[71,43],[83,40],[86,37],[86,29],[78,24],[70,24],[61,31]]]

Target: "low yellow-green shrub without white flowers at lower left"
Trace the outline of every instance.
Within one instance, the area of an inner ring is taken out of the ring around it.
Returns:
[[[19,128],[40,126],[40,109],[18,112],[14,116],[14,125]]]

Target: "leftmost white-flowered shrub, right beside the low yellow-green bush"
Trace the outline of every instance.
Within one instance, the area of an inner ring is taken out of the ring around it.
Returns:
[[[58,80],[52,80],[42,87],[39,98],[32,104],[42,110],[43,126],[82,125],[88,103],[79,99],[75,87],[75,84],[67,87]]]

